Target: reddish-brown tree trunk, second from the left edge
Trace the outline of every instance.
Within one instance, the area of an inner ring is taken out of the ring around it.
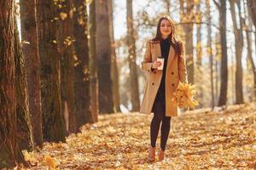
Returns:
[[[35,0],[20,0],[22,52],[26,64],[26,83],[29,112],[35,144],[43,147],[40,59],[38,54],[38,27]]]

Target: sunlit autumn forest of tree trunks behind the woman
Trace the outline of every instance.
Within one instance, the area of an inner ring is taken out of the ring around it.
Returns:
[[[255,0],[0,0],[0,168],[100,115],[138,112],[163,15],[185,43],[196,109],[255,101]]]

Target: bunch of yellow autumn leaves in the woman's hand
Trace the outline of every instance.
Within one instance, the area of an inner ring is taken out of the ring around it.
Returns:
[[[179,108],[195,109],[196,105],[199,105],[195,99],[195,85],[187,83],[179,83],[177,90],[173,93],[174,97],[172,101],[178,105]]]

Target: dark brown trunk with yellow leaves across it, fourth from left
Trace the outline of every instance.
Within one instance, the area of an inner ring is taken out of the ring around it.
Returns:
[[[61,114],[65,115],[67,132],[77,133],[74,111],[73,0],[57,2],[60,14],[59,47],[61,52]]]

